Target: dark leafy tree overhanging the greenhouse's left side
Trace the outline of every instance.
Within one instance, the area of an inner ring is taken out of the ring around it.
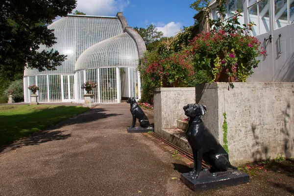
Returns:
[[[57,16],[66,16],[76,0],[0,1],[0,77],[15,80],[25,66],[39,71],[55,70],[66,59],[58,51],[39,51],[40,45],[56,43],[47,28]]]

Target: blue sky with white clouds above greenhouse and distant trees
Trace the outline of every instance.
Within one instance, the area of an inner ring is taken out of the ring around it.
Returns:
[[[77,0],[76,10],[95,16],[115,16],[123,12],[129,26],[156,25],[166,36],[194,24],[196,11],[190,8],[195,0]]]

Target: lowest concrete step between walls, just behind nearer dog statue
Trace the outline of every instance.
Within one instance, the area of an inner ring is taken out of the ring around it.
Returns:
[[[187,141],[184,130],[179,128],[164,129],[162,137],[192,154],[192,149]]]

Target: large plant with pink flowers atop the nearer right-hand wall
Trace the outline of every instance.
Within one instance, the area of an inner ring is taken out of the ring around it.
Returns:
[[[196,72],[205,70],[212,78],[211,82],[245,82],[253,73],[259,60],[256,57],[265,54],[257,38],[250,36],[253,23],[241,26],[238,17],[241,10],[233,17],[223,21],[223,0],[218,0],[220,18],[209,20],[211,30],[198,34],[186,48],[193,58]]]

